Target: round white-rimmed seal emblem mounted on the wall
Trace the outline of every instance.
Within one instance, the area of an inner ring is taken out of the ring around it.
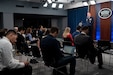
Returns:
[[[112,10],[109,8],[103,8],[99,11],[98,15],[102,19],[107,19],[112,15]]]

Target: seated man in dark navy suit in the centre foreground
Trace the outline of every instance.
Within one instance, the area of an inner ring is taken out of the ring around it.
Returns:
[[[70,75],[75,74],[75,64],[76,60],[74,56],[64,56],[60,51],[60,43],[55,37],[58,35],[58,28],[52,27],[50,29],[50,34],[41,40],[40,46],[43,55],[44,62],[47,66],[52,66],[55,68],[61,67],[59,70],[67,75],[65,65],[70,63]],[[53,71],[53,74],[55,71]],[[63,75],[63,74],[57,74]]]

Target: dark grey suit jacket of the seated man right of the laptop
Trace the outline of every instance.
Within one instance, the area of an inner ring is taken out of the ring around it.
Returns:
[[[74,38],[74,42],[79,57],[84,58],[87,56],[91,63],[94,63],[97,51],[93,46],[93,40],[90,36],[81,33]]]

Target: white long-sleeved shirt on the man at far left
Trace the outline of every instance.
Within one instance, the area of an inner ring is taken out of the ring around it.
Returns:
[[[12,50],[13,47],[8,38],[0,39],[0,71],[5,67],[13,69],[25,66],[23,62],[14,59]]]

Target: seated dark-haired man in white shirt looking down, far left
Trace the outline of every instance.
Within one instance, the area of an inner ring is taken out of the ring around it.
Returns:
[[[28,61],[20,62],[13,57],[12,44],[16,42],[17,33],[9,30],[0,40],[0,75],[32,75]]]

